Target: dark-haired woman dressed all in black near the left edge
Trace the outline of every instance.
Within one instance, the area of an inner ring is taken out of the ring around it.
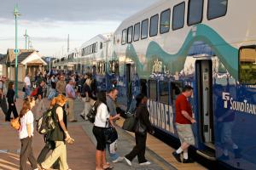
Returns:
[[[15,89],[14,82],[9,82],[8,92],[6,94],[9,109],[7,111],[6,118],[5,118],[5,121],[8,121],[8,122],[10,122],[10,115],[12,112],[13,112],[15,118],[18,117],[18,112],[17,112],[16,105],[15,105],[16,99],[15,99],[15,90],[14,89]]]

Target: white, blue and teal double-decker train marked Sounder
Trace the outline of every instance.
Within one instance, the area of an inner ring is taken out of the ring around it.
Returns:
[[[124,110],[147,94],[154,127],[174,138],[175,99],[191,85],[198,154],[256,169],[255,6],[254,0],[161,0],[112,35],[86,42],[82,63],[99,88],[119,89]]]

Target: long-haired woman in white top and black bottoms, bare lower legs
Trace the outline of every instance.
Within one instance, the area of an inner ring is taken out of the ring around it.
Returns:
[[[96,138],[96,170],[112,169],[106,161],[106,140],[104,130],[108,127],[109,109],[106,92],[100,92],[97,99],[96,117],[92,132]]]

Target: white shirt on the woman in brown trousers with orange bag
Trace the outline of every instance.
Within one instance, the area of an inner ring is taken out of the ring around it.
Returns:
[[[20,130],[19,130],[19,138],[20,139],[25,139],[26,137],[28,137],[28,133],[27,133],[27,130],[26,130],[26,125],[27,124],[30,124],[31,134],[33,136],[33,132],[34,132],[33,122],[34,122],[34,116],[33,116],[32,111],[27,111],[26,114],[21,117],[21,119],[20,119]]]

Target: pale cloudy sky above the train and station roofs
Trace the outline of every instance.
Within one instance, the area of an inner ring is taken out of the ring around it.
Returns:
[[[98,34],[116,30],[122,20],[158,0],[0,0],[0,54],[15,48],[14,8],[18,5],[18,47],[25,31],[32,48],[44,56],[67,54]]]

